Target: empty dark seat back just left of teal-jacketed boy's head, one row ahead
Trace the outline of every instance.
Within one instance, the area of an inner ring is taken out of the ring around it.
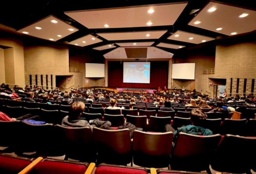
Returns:
[[[165,126],[171,124],[171,117],[153,117],[150,116],[148,123],[148,131],[150,132],[165,132]]]

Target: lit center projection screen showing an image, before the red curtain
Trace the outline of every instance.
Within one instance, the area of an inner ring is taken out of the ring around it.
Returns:
[[[150,83],[150,62],[124,62],[123,83]]]

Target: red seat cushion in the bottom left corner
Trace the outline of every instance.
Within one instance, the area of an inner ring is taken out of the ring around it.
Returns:
[[[0,174],[18,174],[30,164],[29,160],[0,156]]]

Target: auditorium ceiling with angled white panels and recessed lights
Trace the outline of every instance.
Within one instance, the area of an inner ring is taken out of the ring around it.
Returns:
[[[106,59],[171,58],[183,48],[256,30],[253,0],[28,0],[1,6],[0,24],[94,49]]]

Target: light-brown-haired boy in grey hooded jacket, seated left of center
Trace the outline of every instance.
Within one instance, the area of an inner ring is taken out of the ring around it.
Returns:
[[[68,116],[64,117],[62,120],[62,126],[70,127],[90,127],[93,130],[93,127],[103,128],[104,126],[111,126],[109,121],[101,121],[99,119],[90,120],[79,120],[83,114],[85,105],[83,102],[74,102],[70,106]]]

